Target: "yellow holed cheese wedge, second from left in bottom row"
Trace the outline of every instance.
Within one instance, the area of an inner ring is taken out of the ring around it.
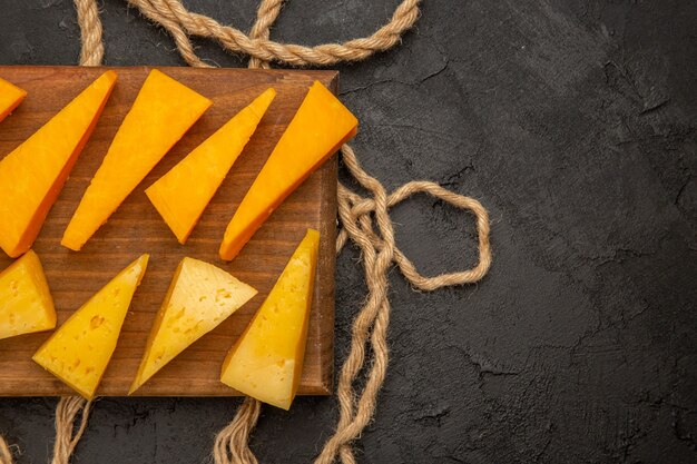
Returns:
[[[130,300],[147,265],[148,255],[128,265],[75,312],[32,359],[91,399],[116,349]]]

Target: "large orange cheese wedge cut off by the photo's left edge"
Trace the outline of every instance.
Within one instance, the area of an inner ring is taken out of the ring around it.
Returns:
[[[0,247],[17,257],[39,235],[114,83],[107,71],[0,161]]]

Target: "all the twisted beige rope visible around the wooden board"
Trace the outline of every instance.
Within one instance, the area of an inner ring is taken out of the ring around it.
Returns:
[[[419,18],[421,2],[403,0],[390,21],[370,37],[345,43],[304,47],[269,39],[271,27],[281,12],[283,0],[262,0],[256,22],[248,36],[233,27],[222,26],[212,18],[188,11],[180,0],[126,1],[171,34],[179,53],[188,65],[209,67],[196,55],[192,45],[190,37],[197,36],[217,41],[227,51],[248,55],[249,68],[268,68],[272,61],[292,66],[331,66],[343,61],[363,60],[399,43],[402,34]],[[104,45],[96,0],[75,0],[75,4],[82,40],[80,65],[98,66],[104,57]],[[325,443],[315,464],[332,464],[337,456],[343,464],[356,463],[351,444],[372,419],[377,394],[387,371],[386,337],[390,324],[387,272],[392,265],[397,266],[414,288],[428,292],[444,286],[475,283],[484,277],[491,266],[489,215],[479,201],[424,180],[408,182],[387,195],[382,184],[361,167],[350,146],[344,145],[341,152],[344,165],[370,196],[363,197],[338,184],[338,217],[342,229],[336,238],[336,253],[343,249],[348,239],[361,249],[369,296],[353,322],[350,353],[340,373],[337,384],[340,417],[336,431]],[[479,263],[474,268],[425,277],[397,248],[389,209],[419,192],[431,195],[474,216],[479,235]],[[369,342],[372,361],[367,368],[365,385],[361,392],[356,392],[354,383],[365,368]],[[57,437],[52,464],[68,464],[85,432],[89,405],[79,397],[60,399],[56,411]],[[80,425],[73,435],[73,423],[80,411],[82,411]],[[251,397],[244,399],[233,421],[215,438],[213,452],[215,464],[257,464],[248,442],[259,412],[258,401]],[[0,437],[0,464],[11,463],[11,453],[4,440]]]

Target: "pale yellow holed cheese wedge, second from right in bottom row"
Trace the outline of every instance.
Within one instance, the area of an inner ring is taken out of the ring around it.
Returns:
[[[157,313],[129,394],[254,295],[256,289],[225,270],[184,258]]]

